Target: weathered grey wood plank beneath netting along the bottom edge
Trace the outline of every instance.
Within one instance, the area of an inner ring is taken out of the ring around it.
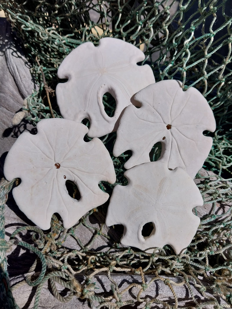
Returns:
[[[126,302],[126,301],[132,301],[135,302],[134,306],[135,308],[144,308],[145,306],[145,300],[146,299],[153,299],[157,298],[159,301],[163,301],[168,303],[171,306],[174,306],[175,301],[174,301],[174,296],[170,288],[164,283],[164,281],[156,279],[153,281],[154,276],[152,275],[146,275],[145,276],[145,282],[148,285],[148,288],[145,291],[141,292],[141,276],[139,275],[129,275],[129,274],[111,274],[111,278],[118,283],[119,285],[119,291],[118,294],[121,294],[121,301]],[[196,304],[192,300],[190,290],[187,286],[187,284],[183,281],[183,278],[181,277],[168,277],[168,276],[162,276],[163,279],[168,279],[172,283],[172,287],[174,289],[174,293],[177,296],[178,299],[178,308],[179,307],[192,307],[195,308]],[[23,277],[17,277],[18,282],[23,280]],[[77,277],[76,278],[79,283],[82,283],[82,277]],[[16,278],[15,280],[16,281]],[[11,280],[11,284],[14,286],[14,281]],[[104,273],[99,273],[97,276],[94,277],[93,282],[95,283],[94,286],[94,291],[96,296],[102,296],[105,298],[108,298],[109,301],[112,301],[115,303],[115,299],[112,298],[113,293],[111,291],[111,281],[107,277],[106,274]],[[133,282],[137,286],[133,286],[130,289],[128,289],[125,292],[122,292],[124,289],[127,289],[127,287]],[[193,282],[189,282],[190,287],[192,290],[192,293],[197,301],[198,304],[203,305],[204,303],[208,302],[207,298],[204,298],[199,291],[195,288]],[[203,280],[204,283],[204,280]],[[176,285],[178,284],[178,285]],[[61,292],[63,297],[67,297],[68,293],[66,294],[64,289],[57,284],[58,290]],[[62,292],[63,291],[63,292]],[[139,297],[137,297],[138,293]],[[17,304],[19,305],[20,308],[27,308],[27,309],[32,309],[33,304],[35,301],[35,293],[36,293],[36,288],[29,287],[27,284],[24,284],[20,286],[17,290],[13,290],[13,295],[16,299]],[[212,297],[209,293],[206,293],[207,297]],[[110,298],[109,298],[110,297]],[[113,299],[113,300],[112,300]],[[215,298],[216,300],[216,298]],[[226,302],[223,299],[217,298],[220,304],[225,304]],[[39,308],[44,309],[44,308],[73,308],[72,306],[78,306],[78,308],[89,308],[89,305],[91,306],[92,309],[95,307],[99,306],[99,303],[97,301],[89,301],[85,300],[80,300],[76,298],[75,296],[72,298],[72,300],[69,303],[61,303],[58,301],[57,298],[55,298],[52,295],[52,290],[51,287],[46,283],[45,286],[42,289],[41,292],[41,298],[39,302]],[[125,308],[130,308],[130,305],[127,305],[128,307]],[[207,304],[208,309],[213,309],[215,304],[212,302],[212,304]],[[159,306],[156,303],[153,303],[151,308],[158,308],[162,307],[161,305]],[[205,307],[206,308],[206,307]]]

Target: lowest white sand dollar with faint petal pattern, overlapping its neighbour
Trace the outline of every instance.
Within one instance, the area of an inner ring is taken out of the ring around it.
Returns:
[[[164,162],[140,164],[124,175],[128,185],[114,187],[106,225],[123,224],[124,245],[148,250],[168,244],[176,254],[182,252],[200,223],[192,208],[203,205],[191,177],[181,168],[170,171]],[[142,228],[148,222],[154,230],[144,237]]]

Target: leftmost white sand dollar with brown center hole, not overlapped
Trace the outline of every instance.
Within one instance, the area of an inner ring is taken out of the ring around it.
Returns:
[[[73,226],[88,210],[109,198],[98,183],[116,180],[113,162],[104,144],[94,138],[84,142],[88,128],[67,119],[45,119],[38,133],[23,133],[10,149],[4,174],[7,180],[21,178],[13,189],[20,210],[46,230],[59,213],[65,228]],[[69,196],[66,181],[79,189],[79,201]]]

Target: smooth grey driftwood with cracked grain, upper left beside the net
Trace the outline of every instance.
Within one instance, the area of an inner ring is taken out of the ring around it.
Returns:
[[[6,18],[0,17],[1,155],[11,148],[15,138],[22,131],[33,128],[26,121],[18,126],[12,126],[13,116],[21,110],[24,99],[32,93],[35,87],[29,68],[29,63],[23,55],[21,43],[11,32],[10,23]]]

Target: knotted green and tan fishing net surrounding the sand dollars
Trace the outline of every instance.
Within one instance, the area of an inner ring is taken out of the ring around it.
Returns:
[[[35,226],[23,226],[4,241],[4,203],[13,183],[1,183],[1,235],[0,262],[3,270],[0,280],[0,297],[9,308],[17,307],[9,288],[5,251],[17,243],[15,235],[30,231],[30,242],[17,244],[35,252],[37,259],[30,271],[36,267],[40,273],[36,278],[27,277],[27,284],[37,286],[34,308],[39,305],[40,292],[46,281],[50,282],[53,294],[61,302],[73,297],[87,299],[96,308],[120,308],[140,303],[144,308],[157,304],[164,308],[178,308],[175,280],[182,278],[189,289],[192,303],[189,307],[215,308],[232,305],[232,5],[230,0],[138,0],[138,1],[77,1],[77,0],[4,0],[0,8],[6,13],[14,30],[22,38],[26,56],[32,65],[39,90],[28,97],[28,120],[34,125],[43,118],[51,117],[45,95],[41,69],[50,92],[54,115],[60,116],[54,92],[58,83],[57,69],[64,57],[80,44],[91,41],[98,44],[102,37],[113,36],[125,40],[144,50],[145,60],[153,69],[156,81],[178,79],[183,88],[196,87],[213,109],[217,129],[212,133],[213,147],[204,168],[216,176],[197,174],[197,185],[205,205],[212,205],[209,214],[201,219],[199,229],[182,255],[176,256],[169,246],[160,253],[147,254],[136,248],[123,248],[118,239],[106,233],[104,218],[106,206],[100,206],[86,214],[79,223],[65,230],[54,215],[52,229],[44,233]],[[95,13],[93,15],[93,12]],[[170,12],[172,12],[170,14]],[[92,17],[94,16],[94,18]],[[38,65],[37,60],[40,63]],[[78,60],[77,60],[78,61]],[[143,64],[142,63],[142,64]],[[105,110],[114,112],[112,98],[104,96]],[[88,125],[88,121],[86,121]],[[109,150],[117,175],[115,184],[127,184],[123,176],[123,164],[129,153],[115,158],[112,148],[116,134],[104,136],[102,141]],[[154,145],[151,153],[156,160],[160,145]],[[114,184],[114,185],[115,185]],[[112,193],[114,185],[100,184],[102,190]],[[227,206],[225,213],[218,213],[218,205]],[[197,210],[196,214],[197,214]],[[93,212],[101,218],[98,226],[89,221]],[[78,229],[85,226],[91,231],[90,239],[78,237]],[[75,250],[67,249],[63,243],[67,237],[76,242]],[[95,240],[104,237],[110,249],[94,249]],[[78,274],[84,274],[80,284]],[[95,276],[104,273],[109,278],[107,295],[97,293]],[[128,273],[141,276],[140,282],[128,282],[123,289],[114,281],[112,274]],[[149,279],[144,275],[149,274]],[[204,279],[204,280],[203,280]],[[158,296],[147,298],[146,290],[155,281],[163,281],[170,288],[173,299],[162,301]],[[191,282],[191,284],[190,284]],[[61,296],[56,283],[69,290]],[[192,286],[204,296],[196,298]],[[135,297],[123,300],[130,290]],[[219,296],[224,299],[222,304]],[[131,305],[129,305],[131,304]],[[7,308],[8,308],[7,307]]]

